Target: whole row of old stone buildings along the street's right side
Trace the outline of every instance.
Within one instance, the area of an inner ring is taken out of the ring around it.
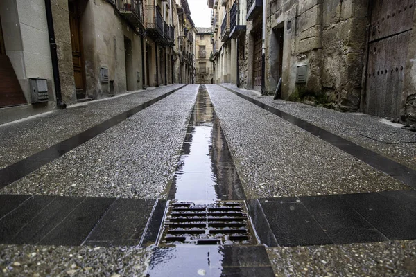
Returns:
[[[415,0],[208,5],[214,82],[416,125]]]

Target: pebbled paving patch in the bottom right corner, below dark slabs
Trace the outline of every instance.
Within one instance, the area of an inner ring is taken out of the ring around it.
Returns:
[[[266,249],[276,276],[416,276],[416,241]]]

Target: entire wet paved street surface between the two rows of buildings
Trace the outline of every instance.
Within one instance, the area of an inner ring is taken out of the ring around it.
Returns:
[[[375,116],[172,84],[0,140],[1,276],[416,274],[416,133]]]

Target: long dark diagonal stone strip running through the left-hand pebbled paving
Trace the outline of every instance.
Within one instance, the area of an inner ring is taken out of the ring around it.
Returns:
[[[143,104],[134,107],[128,111],[125,111],[122,114],[114,116],[109,120],[105,120],[103,123],[91,127],[86,131],[81,132],[80,134],[71,136],[71,138],[57,143],[51,146],[50,148],[46,148],[45,150],[37,152],[36,154],[33,154],[32,156],[27,157],[26,159],[18,161],[17,163],[13,163],[12,165],[6,168],[2,168],[0,170],[0,188],[4,188],[5,186],[12,184],[14,181],[17,181],[18,179],[25,177],[29,173],[37,170],[37,168],[40,168],[41,166],[44,166],[46,163],[49,163],[54,159],[61,157],[63,154],[73,150],[73,148],[78,147],[86,141],[89,141],[98,134],[105,132],[107,129],[110,129],[114,125],[121,123],[123,120],[137,114],[139,111],[146,109],[146,107],[155,104],[155,102],[158,102],[163,98],[166,98],[167,96],[171,95],[175,91],[182,89],[183,87],[185,86],[164,93],[162,96],[154,98],[153,100],[150,100],[148,102],[144,102]]]

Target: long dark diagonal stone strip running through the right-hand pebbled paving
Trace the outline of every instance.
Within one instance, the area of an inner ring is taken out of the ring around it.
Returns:
[[[416,170],[413,170],[411,168],[408,168],[407,166],[402,165],[401,163],[397,163],[396,161],[392,161],[391,159],[383,157],[381,154],[377,154],[376,152],[368,150],[367,148],[363,148],[362,146],[357,145],[352,141],[343,139],[342,137],[336,134],[332,134],[331,132],[328,132],[320,127],[317,127],[300,118],[297,118],[296,116],[292,116],[291,114],[287,114],[286,112],[281,111],[275,107],[266,105],[263,102],[260,102],[259,100],[255,100],[253,98],[250,98],[249,96],[245,96],[244,94],[239,93],[238,91],[234,91],[222,85],[220,85],[220,87],[223,87],[223,89],[226,89],[227,91],[230,91],[236,94],[237,96],[240,96],[241,98],[248,100],[249,102],[252,102],[254,105],[266,109],[266,111],[270,111],[272,114],[275,114],[276,116],[279,116],[284,120],[287,120],[289,123],[292,123],[297,127],[301,127],[305,131],[313,134],[314,136],[317,136],[318,138],[326,141],[327,143],[331,143],[331,145],[336,146],[336,148],[339,148],[340,150],[343,150],[344,152],[351,154],[352,156],[356,157],[357,159],[360,159],[368,165],[378,170],[381,170],[382,172],[385,172],[392,178],[395,178],[408,186],[416,188]]]

